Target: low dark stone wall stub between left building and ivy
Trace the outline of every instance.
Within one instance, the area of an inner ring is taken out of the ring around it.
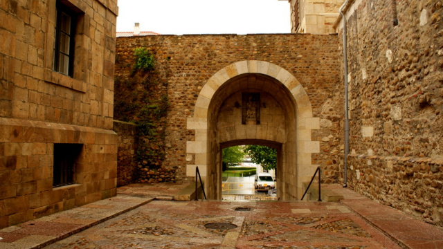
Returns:
[[[136,124],[116,120],[113,129],[118,134],[117,187],[120,187],[137,180],[138,131]]]

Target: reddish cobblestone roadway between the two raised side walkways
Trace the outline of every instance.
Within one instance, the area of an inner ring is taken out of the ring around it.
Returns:
[[[341,203],[152,201],[46,247],[59,248],[400,247]]]

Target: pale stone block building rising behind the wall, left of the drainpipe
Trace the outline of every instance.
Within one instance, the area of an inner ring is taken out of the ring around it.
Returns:
[[[291,33],[333,34],[343,0],[289,0]]]

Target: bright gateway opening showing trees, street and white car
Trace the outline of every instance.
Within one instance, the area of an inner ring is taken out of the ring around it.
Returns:
[[[278,201],[281,144],[266,140],[237,140],[220,145],[221,199]]]

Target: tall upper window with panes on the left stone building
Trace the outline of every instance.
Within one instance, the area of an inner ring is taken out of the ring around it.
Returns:
[[[76,14],[57,1],[54,35],[54,71],[73,76],[73,54]]]

